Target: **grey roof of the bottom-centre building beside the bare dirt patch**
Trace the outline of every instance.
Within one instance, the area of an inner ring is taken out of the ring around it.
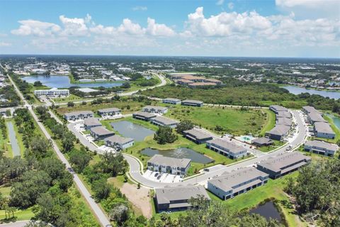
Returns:
[[[206,199],[210,199],[202,185],[164,187],[156,189],[155,191],[158,204],[169,204],[170,201],[188,200],[191,199],[191,197],[198,198],[199,195],[204,196]]]

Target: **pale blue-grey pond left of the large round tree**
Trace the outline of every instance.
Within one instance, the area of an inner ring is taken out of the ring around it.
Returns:
[[[112,122],[111,126],[115,131],[118,131],[120,135],[124,137],[133,138],[135,141],[143,141],[145,137],[153,135],[154,131],[144,126],[140,126],[137,123],[130,121],[117,121]]]

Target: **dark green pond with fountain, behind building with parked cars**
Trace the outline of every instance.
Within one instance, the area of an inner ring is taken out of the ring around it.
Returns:
[[[189,148],[177,148],[174,150],[157,150],[152,148],[145,148],[140,153],[152,157],[154,155],[163,155],[165,157],[188,158],[193,162],[208,164],[213,160],[209,157],[197,153],[195,150]]]

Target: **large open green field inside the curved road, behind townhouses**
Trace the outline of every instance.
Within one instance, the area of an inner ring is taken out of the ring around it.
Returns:
[[[221,107],[188,107],[174,106],[166,116],[178,120],[190,120],[198,126],[207,128],[215,133],[230,133],[233,135],[254,135],[261,132],[266,125],[266,112],[261,110],[240,110],[237,108]],[[272,121],[269,117],[268,120]],[[222,131],[217,126],[221,127]]]

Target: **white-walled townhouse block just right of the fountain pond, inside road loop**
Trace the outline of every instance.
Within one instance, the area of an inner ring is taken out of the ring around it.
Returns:
[[[208,140],[207,148],[210,150],[214,150],[221,155],[225,155],[231,159],[237,159],[239,157],[246,156],[246,148],[236,145],[227,140],[215,139],[215,140]]]

